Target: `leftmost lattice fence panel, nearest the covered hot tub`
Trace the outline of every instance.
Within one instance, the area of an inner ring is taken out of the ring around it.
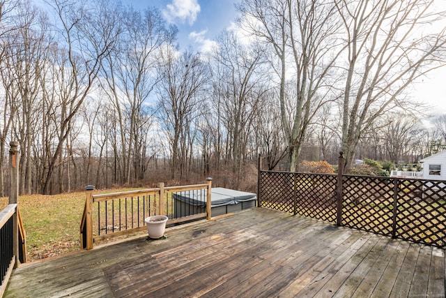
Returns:
[[[261,172],[260,207],[293,213],[293,173]]]

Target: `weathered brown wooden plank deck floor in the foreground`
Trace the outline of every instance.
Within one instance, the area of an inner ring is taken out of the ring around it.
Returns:
[[[445,297],[445,253],[267,209],[15,269],[5,297]]]

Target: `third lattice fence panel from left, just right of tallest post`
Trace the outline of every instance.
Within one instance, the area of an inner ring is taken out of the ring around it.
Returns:
[[[391,236],[393,185],[383,177],[345,176],[342,225]]]

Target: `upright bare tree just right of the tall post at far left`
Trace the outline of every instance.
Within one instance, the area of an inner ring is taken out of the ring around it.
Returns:
[[[18,6],[17,18],[20,29],[17,38],[21,43],[13,47],[15,54],[10,56],[10,70],[13,71],[15,86],[20,98],[14,101],[15,139],[20,142],[20,192],[31,193],[32,156],[31,148],[35,142],[36,130],[40,121],[38,105],[41,100],[41,80],[45,75],[49,36],[47,36],[46,16],[36,8],[23,3]]]

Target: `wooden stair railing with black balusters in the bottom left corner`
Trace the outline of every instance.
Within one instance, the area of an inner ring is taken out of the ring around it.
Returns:
[[[26,262],[26,240],[17,204],[0,211],[0,297],[17,263]]]

